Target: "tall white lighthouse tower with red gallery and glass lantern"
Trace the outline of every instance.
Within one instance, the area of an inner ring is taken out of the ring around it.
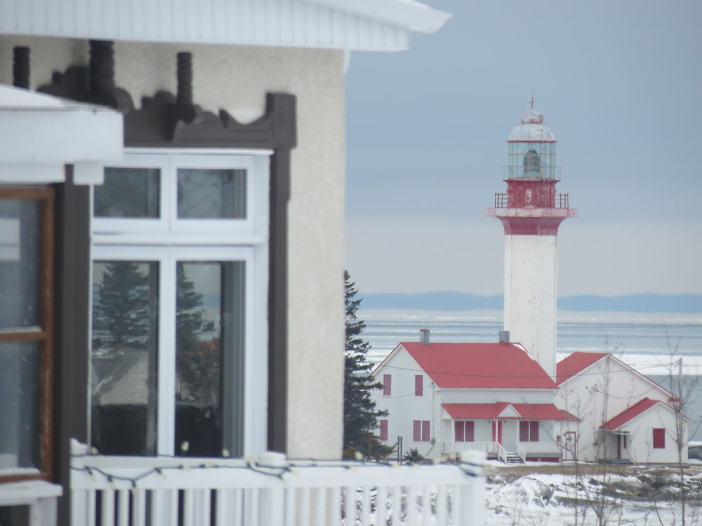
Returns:
[[[507,193],[495,194],[494,208],[487,209],[505,228],[504,326],[511,341],[523,344],[555,378],[557,234],[576,210],[569,208],[568,194],[556,194],[556,139],[533,100],[507,144]]]

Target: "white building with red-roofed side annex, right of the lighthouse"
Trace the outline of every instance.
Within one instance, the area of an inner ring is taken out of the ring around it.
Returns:
[[[611,353],[572,353],[556,367],[564,457],[584,461],[687,461],[688,426],[677,398]]]

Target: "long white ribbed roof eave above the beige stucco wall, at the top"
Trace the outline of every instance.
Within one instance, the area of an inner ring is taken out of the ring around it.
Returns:
[[[449,17],[412,0],[2,0],[0,34],[398,51]]]

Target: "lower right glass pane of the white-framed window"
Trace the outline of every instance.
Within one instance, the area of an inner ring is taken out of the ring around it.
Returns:
[[[178,262],[176,290],[176,454],[239,456],[244,262]]]

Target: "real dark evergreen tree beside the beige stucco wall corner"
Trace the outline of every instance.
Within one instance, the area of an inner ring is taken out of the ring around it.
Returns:
[[[348,271],[344,271],[346,299],[346,352],[344,367],[344,457],[353,458],[360,453],[365,458],[380,459],[392,452],[392,447],[383,445],[374,430],[378,427],[378,417],[387,411],[376,410],[371,400],[371,390],[380,389],[379,382],[373,382],[369,372],[373,365],[366,361],[370,344],[364,342],[361,333],[366,323],[359,320],[356,311],[362,299],[356,299],[358,289],[351,281]]]

